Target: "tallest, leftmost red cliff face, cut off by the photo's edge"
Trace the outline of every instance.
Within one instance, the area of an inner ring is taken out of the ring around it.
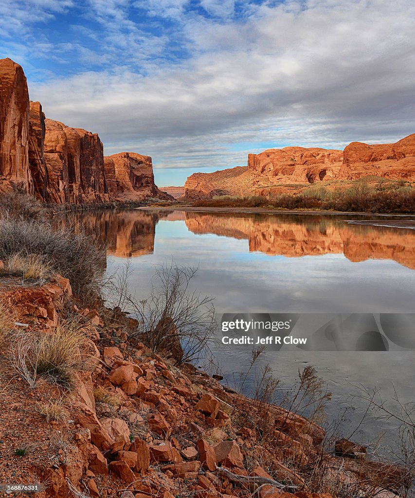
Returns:
[[[29,93],[23,69],[11,59],[0,59],[0,82],[0,181],[2,188],[24,183],[30,191]]]

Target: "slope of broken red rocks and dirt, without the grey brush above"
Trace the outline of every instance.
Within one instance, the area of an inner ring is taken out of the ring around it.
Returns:
[[[66,278],[25,287],[3,275],[0,299],[26,335],[53,333],[71,309],[88,337],[70,392],[42,376],[30,387],[0,342],[0,483],[38,484],[39,498],[338,498],[373,483],[371,496],[397,498],[385,490],[409,479],[358,443],[326,453],[313,421],[131,342],[134,319],[78,307]],[[48,419],[57,399],[60,418]]]

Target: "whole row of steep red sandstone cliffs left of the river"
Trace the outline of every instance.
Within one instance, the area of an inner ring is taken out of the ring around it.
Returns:
[[[0,59],[0,191],[23,185],[46,202],[172,200],[154,184],[151,157],[104,157],[97,133],[46,119],[23,69]]]

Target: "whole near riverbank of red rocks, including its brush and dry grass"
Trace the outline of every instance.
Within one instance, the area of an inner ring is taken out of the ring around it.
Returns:
[[[39,498],[389,498],[408,488],[410,467],[374,462],[320,425],[330,397],[314,369],[291,379],[284,404],[270,372],[251,398],[229,389],[183,363],[171,319],[150,317],[138,336],[120,302],[106,307],[95,294],[105,266],[92,266],[104,255],[83,232],[55,233],[31,215],[0,220],[0,483],[38,485]],[[303,399],[315,407],[307,418]]]

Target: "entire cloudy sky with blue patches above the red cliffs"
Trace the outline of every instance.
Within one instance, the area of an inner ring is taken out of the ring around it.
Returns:
[[[415,132],[413,0],[0,0],[0,19],[46,117],[152,156],[159,186]]]

